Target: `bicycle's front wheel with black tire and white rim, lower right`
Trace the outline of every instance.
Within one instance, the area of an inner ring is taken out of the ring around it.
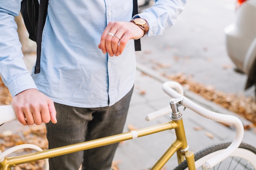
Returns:
[[[195,168],[203,170],[202,165],[227,148],[231,143],[218,144],[205,148],[195,154]],[[187,162],[182,162],[174,170],[188,170]],[[227,159],[218,163],[211,170],[255,170],[256,148],[249,144],[240,144],[239,148]]]

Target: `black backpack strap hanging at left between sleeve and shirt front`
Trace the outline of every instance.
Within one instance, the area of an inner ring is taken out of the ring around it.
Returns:
[[[40,0],[39,13],[38,13],[38,25],[37,25],[37,36],[36,36],[36,66],[35,74],[40,73],[40,59],[41,59],[41,43],[43,27],[45,26],[45,20],[47,16],[48,0]]]

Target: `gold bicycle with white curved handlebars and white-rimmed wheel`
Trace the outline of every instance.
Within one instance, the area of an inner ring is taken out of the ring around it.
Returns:
[[[95,139],[92,141],[86,141],[79,144],[73,144],[48,150],[41,150],[37,146],[31,144],[14,146],[4,152],[0,152],[0,170],[11,170],[11,167],[13,166],[41,159],[45,159],[45,169],[47,170],[49,168],[48,158],[51,157],[105,146],[108,144],[126,141],[129,139],[136,139],[138,137],[171,129],[175,130],[176,139],[162,155],[162,157],[155,163],[151,170],[161,170],[165,163],[175,153],[177,153],[177,161],[179,165],[174,170],[195,170],[200,168],[216,168],[222,170],[227,170],[229,168],[234,170],[236,168],[243,168],[243,170],[256,169],[256,148],[251,145],[241,143],[244,131],[243,124],[240,119],[231,115],[222,115],[220,113],[215,113],[198,106],[197,104],[193,103],[192,101],[183,96],[182,86],[177,82],[166,82],[163,84],[162,88],[165,93],[172,97],[170,101],[171,107],[168,106],[166,108],[163,108],[162,110],[150,113],[146,117],[146,119],[152,120],[162,115],[171,113],[171,121],[148,128],[131,130],[130,132],[125,132],[109,137]],[[205,148],[195,154],[191,152],[186,141],[186,135],[182,121],[183,115],[179,110],[180,106],[184,106],[184,108],[189,108],[195,113],[198,113],[199,115],[208,119],[233,124],[236,127],[236,136],[233,142],[210,146],[209,148]],[[8,116],[6,116],[6,113],[8,113]],[[4,122],[16,119],[16,114],[14,113],[10,105],[0,106],[0,118],[0,124],[3,124]],[[37,150],[38,152],[20,155],[16,157],[7,157],[7,155],[9,155],[10,153],[22,148],[31,148]]]

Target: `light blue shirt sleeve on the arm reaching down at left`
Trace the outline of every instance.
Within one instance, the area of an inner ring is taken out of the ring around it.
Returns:
[[[7,2],[8,3],[8,2]],[[18,7],[7,9],[0,3],[0,74],[12,96],[29,88],[36,88],[29,71],[23,62],[21,44],[18,38],[14,15]]]

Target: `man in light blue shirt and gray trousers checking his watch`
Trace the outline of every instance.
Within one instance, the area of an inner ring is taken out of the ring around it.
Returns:
[[[14,21],[20,0],[1,0],[0,73],[20,123],[45,123],[49,148],[121,133],[135,80],[132,39],[161,35],[185,3],[156,0],[132,18],[132,0],[49,0],[41,71],[30,74]],[[116,148],[55,157],[50,169],[109,170]]]

